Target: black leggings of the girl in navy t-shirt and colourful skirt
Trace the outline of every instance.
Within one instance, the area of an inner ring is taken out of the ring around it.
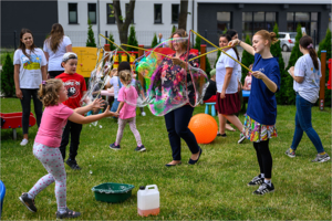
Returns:
[[[269,149],[269,139],[260,143],[253,143],[260,173],[270,179],[272,177],[272,156]]]

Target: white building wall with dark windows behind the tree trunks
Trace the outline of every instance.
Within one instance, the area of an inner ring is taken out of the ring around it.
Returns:
[[[125,14],[125,3],[129,0],[121,1],[121,10],[124,17]],[[77,3],[77,20],[79,24],[69,24],[69,3]],[[85,41],[87,39],[87,3],[96,3],[96,0],[59,0],[59,23],[64,28],[65,34],[68,34],[73,41],[73,46],[85,46]],[[100,0],[100,33],[105,34],[112,32],[116,43],[120,43],[118,31],[116,24],[107,24],[106,14],[106,3],[112,3],[112,1]],[[162,24],[154,23],[154,4],[163,4],[162,9]],[[179,4],[179,0],[167,0],[167,1],[151,1],[151,0],[136,0],[134,9],[134,25],[136,31],[136,36],[139,44],[149,45],[153,41],[154,33],[163,33],[164,38],[168,38],[172,32],[172,4]],[[191,12],[193,2],[188,3],[188,11]],[[193,29],[193,19],[188,14],[187,18],[187,30]],[[177,27],[177,24],[175,24]],[[97,25],[93,24],[93,31],[95,32],[95,38],[97,40]],[[102,43],[105,40],[102,39]]]

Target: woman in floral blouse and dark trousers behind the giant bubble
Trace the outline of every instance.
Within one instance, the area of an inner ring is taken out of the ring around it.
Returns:
[[[178,92],[180,84],[175,84],[175,82],[184,82],[186,77],[183,75],[186,74],[185,70],[187,65],[191,65],[194,67],[198,67],[198,60],[194,60],[191,62],[186,62],[187,59],[190,60],[195,57],[195,54],[187,55],[187,41],[184,41],[179,38],[187,38],[187,33],[185,30],[179,29],[175,31],[170,39],[173,39],[170,43],[170,48],[175,51],[173,56],[174,59],[167,59],[165,57],[163,62],[163,69],[160,69],[162,74],[162,88],[163,91],[173,91]],[[176,40],[179,39],[179,40]],[[187,75],[187,81],[189,80],[189,76]],[[188,83],[188,85],[190,85]],[[193,86],[193,85],[191,85]],[[189,87],[189,86],[188,86]],[[188,88],[190,91],[190,88]],[[189,92],[188,98],[193,98],[195,96],[194,90]],[[193,116],[194,107],[190,105],[184,105],[179,108],[176,108],[168,114],[165,115],[165,122],[166,122],[166,128],[168,131],[168,138],[172,147],[173,152],[173,161],[166,165],[166,167],[172,167],[181,164],[181,140],[183,138],[186,144],[188,145],[191,157],[189,158],[188,164],[195,165],[200,155],[201,155],[201,148],[198,146],[197,140],[194,136],[194,134],[188,128],[188,124],[190,122],[190,118]]]

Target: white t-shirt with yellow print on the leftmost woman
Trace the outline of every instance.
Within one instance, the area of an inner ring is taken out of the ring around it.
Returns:
[[[42,83],[41,67],[45,66],[48,61],[41,49],[34,49],[32,53],[25,50],[25,53],[30,55],[30,60],[22,50],[18,49],[13,56],[13,64],[20,64],[20,88],[35,90]]]

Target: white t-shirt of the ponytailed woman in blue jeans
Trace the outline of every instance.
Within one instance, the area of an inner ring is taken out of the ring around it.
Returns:
[[[301,97],[310,103],[315,103],[319,98],[320,81],[321,81],[321,61],[319,61],[319,70],[313,66],[312,59],[309,54],[301,56],[294,66],[294,76],[304,77],[303,82],[294,81],[293,88]]]

